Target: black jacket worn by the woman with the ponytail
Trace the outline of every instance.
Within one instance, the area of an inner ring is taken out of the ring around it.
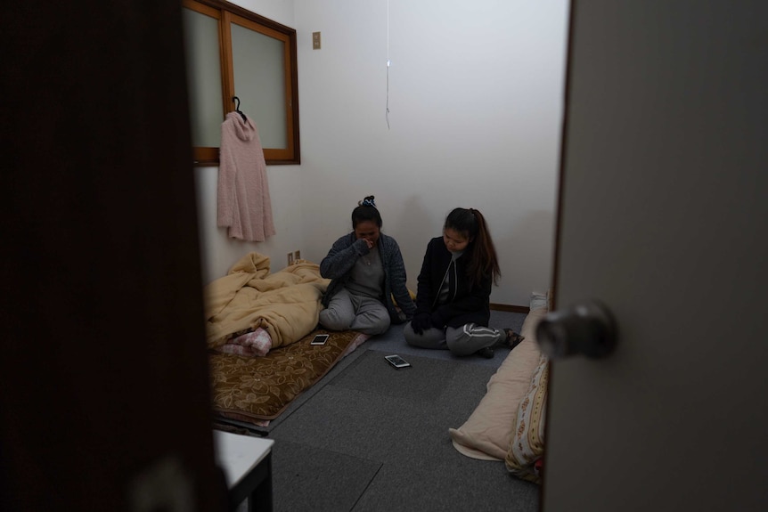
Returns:
[[[416,314],[430,313],[432,323],[436,317],[442,325],[461,327],[466,323],[487,326],[491,317],[490,297],[493,279],[486,276],[481,282],[470,289],[467,277],[467,264],[470,248],[451,265],[451,252],[445,248],[443,237],[429,240],[424,261],[419,273],[416,291]],[[451,272],[450,293],[448,303],[437,305],[437,294],[445,278],[445,273]]]

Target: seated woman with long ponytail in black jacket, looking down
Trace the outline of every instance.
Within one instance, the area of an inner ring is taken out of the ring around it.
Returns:
[[[501,275],[485,217],[473,208],[454,208],[443,236],[429,240],[405,341],[486,358],[494,357],[495,346],[517,346],[523,338],[512,329],[488,327],[491,287]]]

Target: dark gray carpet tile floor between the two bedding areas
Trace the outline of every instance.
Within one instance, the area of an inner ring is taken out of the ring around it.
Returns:
[[[493,312],[491,325],[519,332],[525,316]],[[538,510],[538,485],[465,457],[448,435],[509,349],[459,358],[406,345],[402,329],[366,341],[270,426],[274,510]],[[387,354],[412,368],[396,370]]]

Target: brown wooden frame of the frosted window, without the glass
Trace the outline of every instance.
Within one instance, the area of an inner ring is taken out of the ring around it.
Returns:
[[[234,110],[234,66],[231,24],[237,24],[279,39],[283,43],[283,73],[285,84],[285,119],[287,148],[264,148],[267,165],[298,165],[301,163],[298,137],[298,68],[296,30],[269,20],[224,0],[182,0],[182,6],[215,18],[219,24],[219,54],[222,77],[222,122]],[[195,167],[218,166],[218,148],[192,148]]]

